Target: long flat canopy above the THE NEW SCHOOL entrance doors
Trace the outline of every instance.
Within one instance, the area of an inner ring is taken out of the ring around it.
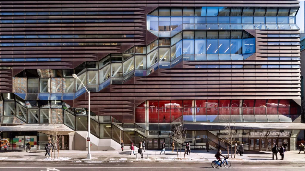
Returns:
[[[187,130],[224,130],[226,123],[183,124]],[[230,123],[235,130],[304,130],[303,123]]]

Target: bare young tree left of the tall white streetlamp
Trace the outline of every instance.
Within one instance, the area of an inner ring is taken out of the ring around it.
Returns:
[[[52,120],[52,124],[51,124],[52,129],[50,131],[48,131],[48,140],[51,141],[51,144],[54,147],[54,159],[55,159],[56,148],[58,150],[57,159],[59,157],[59,140],[63,137],[63,135],[61,134],[61,130],[60,130],[61,124],[62,124],[62,121],[60,121],[58,118],[56,118],[55,120]]]

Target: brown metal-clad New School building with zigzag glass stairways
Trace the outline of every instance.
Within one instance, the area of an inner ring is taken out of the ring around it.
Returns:
[[[43,130],[13,131],[16,125],[59,121],[75,133],[62,139],[69,149],[77,132],[88,131],[88,119],[99,141],[125,146],[145,141],[159,149],[165,142],[169,149],[181,121],[185,143],[195,149],[207,142],[226,148],[226,123],[235,123],[235,142],[245,150],[283,142],[298,148],[298,2],[123,2],[0,9],[0,136],[12,150],[25,141],[41,149],[47,137]]]

